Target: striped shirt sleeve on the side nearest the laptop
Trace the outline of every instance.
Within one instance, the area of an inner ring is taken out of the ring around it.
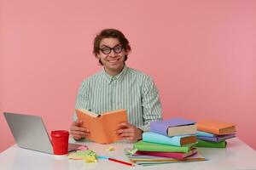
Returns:
[[[90,110],[90,101],[89,101],[89,84],[86,80],[82,82],[79,93],[77,95],[75,109],[85,109]],[[73,121],[78,119],[77,114],[74,112]]]

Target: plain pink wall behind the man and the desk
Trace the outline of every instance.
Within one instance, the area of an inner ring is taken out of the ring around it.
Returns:
[[[234,122],[256,149],[256,1],[3,0],[0,151],[15,141],[3,111],[68,129],[80,82],[99,71],[103,28],[131,42],[127,65],[154,78],[165,118]]]

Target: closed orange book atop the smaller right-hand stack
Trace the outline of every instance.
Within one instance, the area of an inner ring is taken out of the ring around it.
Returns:
[[[218,122],[212,120],[201,120],[196,123],[197,130],[214,134],[236,133],[236,126],[233,123]]]

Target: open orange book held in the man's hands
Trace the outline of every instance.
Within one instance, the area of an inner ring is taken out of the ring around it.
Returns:
[[[116,133],[118,124],[127,122],[127,113],[124,109],[104,112],[101,115],[83,109],[75,111],[78,119],[83,121],[82,127],[90,130],[87,139],[99,144],[110,144],[119,140]]]

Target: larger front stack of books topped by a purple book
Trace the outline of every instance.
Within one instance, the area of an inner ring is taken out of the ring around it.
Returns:
[[[134,144],[131,161],[143,166],[177,161],[202,161],[197,154],[195,122],[174,118],[151,122],[150,132],[143,133],[143,140]]]

